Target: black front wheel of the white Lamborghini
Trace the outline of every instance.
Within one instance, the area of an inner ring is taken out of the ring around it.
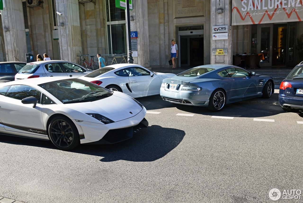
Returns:
[[[52,118],[48,125],[48,136],[61,150],[70,150],[80,145],[80,137],[75,124],[64,116]]]

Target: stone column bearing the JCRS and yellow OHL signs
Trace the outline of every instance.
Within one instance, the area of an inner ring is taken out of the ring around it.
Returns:
[[[218,12],[221,9],[222,13]],[[211,40],[211,64],[231,64],[232,62],[232,30],[231,30],[231,2],[230,0],[211,0],[211,25],[228,25],[228,39]],[[212,31],[211,31],[212,34]],[[228,55],[212,55],[212,49],[227,48]]]

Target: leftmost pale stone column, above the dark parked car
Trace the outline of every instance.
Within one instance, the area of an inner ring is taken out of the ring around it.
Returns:
[[[26,38],[22,2],[20,0],[5,1],[3,5],[2,26],[5,43],[6,61],[26,62]]]

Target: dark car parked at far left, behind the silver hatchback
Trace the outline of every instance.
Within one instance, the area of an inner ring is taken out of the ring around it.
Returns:
[[[25,65],[24,62],[0,62],[0,80],[14,81],[15,75]]]

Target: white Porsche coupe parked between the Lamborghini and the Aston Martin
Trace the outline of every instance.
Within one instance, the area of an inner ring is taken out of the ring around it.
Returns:
[[[160,94],[163,79],[173,76],[173,73],[151,72],[141,65],[121,63],[97,69],[80,79],[138,98]]]

